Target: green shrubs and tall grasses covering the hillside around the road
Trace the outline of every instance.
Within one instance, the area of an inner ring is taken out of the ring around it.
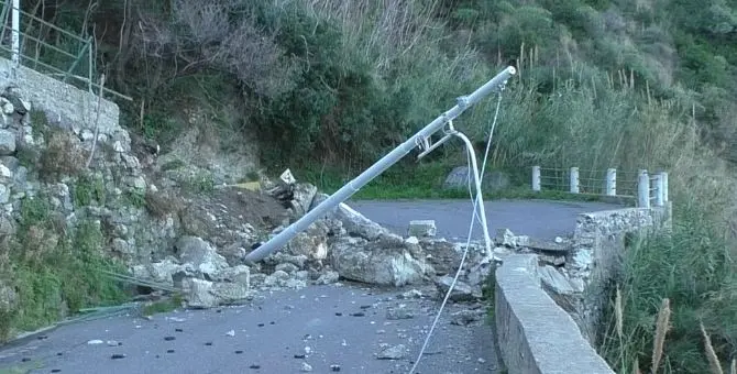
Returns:
[[[645,240],[629,258],[620,286],[631,298],[624,310],[632,332],[607,346],[619,350],[609,358],[626,358],[614,364],[629,371],[636,359],[647,363],[662,298],[676,308],[663,367],[705,372],[706,358],[694,353],[703,352],[700,321],[721,358],[735,355],[737,332],[722,315],[737,305],[734,253],[725,251],[735,208],[729,161],[737,161],[735,0],[24,7],[95,36],[99,73],[134,98],[120,102],[130,128],[167,144],[187,125],[183,108],[204,108],[216,134],[256,133],[267,165],[333,180],[356,175],[457,96],[514,64],[519,75],[503,92],[491,167],[522,175],[532,164],[670,172],[674,233]],[[223,113],[231,106],[240,118]],[[455,125],[481,142],[494,108],[490,98]],[[438,179],[463,160],[446,146],[422,165]],[[406,180],[416,170],[410,162],[378,183]]]

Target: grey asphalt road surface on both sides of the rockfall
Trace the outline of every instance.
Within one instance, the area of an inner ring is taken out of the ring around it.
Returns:
[[[404,232],[411,219],[435,219],[439,233],[464,237],[470,202],[352,202],[356,210]],[[535,237],[564,235],[596,204],[493,201],[492,228]],[[479,233],[481,233],[479,231]],[[426,295],[430,289],[419,288]],[[0,351],[0,373],[407,373],[437,312],[431,298],[398,298],[407,289],[360,285],[266,293],[253,302],[217,310],[182,310],[153,320],[119,316],[61,327]],[[494,338],[483,320],[450,323],[449,305],[417,373],[498,373]],[[388,309],[411,318],[389,319]],[[356,315],[358,314],[358,315]],[[228,332],[232,331],[232,336]],[[88,342],[99,340],[98,344]],[[110,341],[110,344],[108,343]],[[380,360],[382,344],[405,344],[404,358]]]

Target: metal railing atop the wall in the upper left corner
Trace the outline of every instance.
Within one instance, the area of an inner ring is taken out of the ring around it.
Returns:
[[[0,0],[0,57],[18,61],[18,64],[34,69],[90,94],[112,95],[131,101],[132,98],[101,87],[95,67],[95,43],[92,37],[81,37],[55,24],[46,22],[21,9],[13,9],[10,0]],[[18,20],[13,20],[13,16]],[[20,36],[19,51],[13,53],[13,23]],[[53,38],[54,45],[45,42]]]

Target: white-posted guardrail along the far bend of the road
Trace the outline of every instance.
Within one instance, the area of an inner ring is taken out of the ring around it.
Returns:
[[[532,166],[532,190],[557,190],[570,194],[635,198],[637,206],[663,207],[668,202],[668,173],[650,175],[648,170],[583,170]]]

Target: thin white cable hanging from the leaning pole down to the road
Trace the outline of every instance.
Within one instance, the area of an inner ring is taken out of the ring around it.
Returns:
[[[491,148],[492,144],[492,136],[494,134],[494,128],[496,127],[496,121],[498,119],[499,114],[499,107],[502,103],[502,90],[499,90],[499,98],[496,103],[496,112],[494,113],[494,121],[492,122],[492,129],[488,133],[488,140],[486,143],[486,152],[484,154],[484,162],[482,163],[482,172],[481,172],[481,180],[483,183],[483,176],[484,176],[484,169],[486,167],[486,160],[488,158],[488,150]],[[428,331],[427,337],[425,338],[425,342],[422,343],[422,348],[420,349],[419,354],[417,355],[417,360],[415,360],[415,364],[413,365],[413,369],[409,370],[409,374],[414,374],[415,370],[417,370],[417,366],[420,363],[420,360],[422,359],[422,355],[425,354],[425,350],[427,350],[427,345],[430,342],[430,338],[432,337],[432,332],[435,331],[436,327],[438,326],[438,321],[440,320],[440,316],[442,315],[443,309],[446,308],[446,304],[448,304],[448,299],[450,298],[451,293],[453,292],[453,288],[455,287],[455,284],[458,283],[458,278],[461,275],[461,272],[463,271],[463,265],[465,264],[465,258],[469,255],[469,248],[471,246],[471,235],[473,234],[473,226],[474,222],[476,221],[476,218],[479,218],[479,204],[480,204],[480,198],[481,198],[481,190],[476,191],[476,196],[474,198],[473,191],[471,190],[471,157],[473,152],[473,148],[469,148],[466,146],[465,150],[465,155],[466,155],[466,165],[469,167],[469,194],[471,197],[471,200],[473,201],[473,215],[471,216],[471,224],[469,224],[469,235],[465,242],[465,248],[463,249],[463,255],[461,256],[461,263],[458,266],[458,271],[455,271],[455,276],[453,277],[453,282],[450,284],[450,287],[448,288],[448,292],[446,293],[446,297],[443,297],[442,302],[440,304],[440,309],[438,310],[438,314],[435,317],[435,320],[432,321],[432,324],[430,326],[430,331]]]

